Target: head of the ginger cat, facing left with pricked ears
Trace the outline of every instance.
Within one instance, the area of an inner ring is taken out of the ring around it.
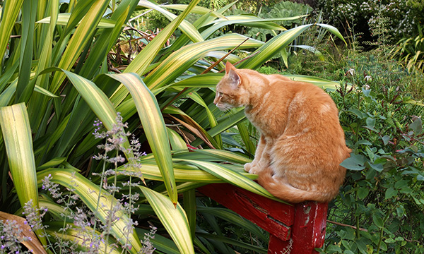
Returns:
[[[216,96],[213,104],[220,110],[228,110],[233,107],[247,106],[248,95],[242,85],[242,78],[230,62],[225,65],[225,75],[216,85]]]

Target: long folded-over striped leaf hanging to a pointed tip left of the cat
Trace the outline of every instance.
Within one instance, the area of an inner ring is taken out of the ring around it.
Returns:
[[[108,74],[118,80],[129,90],[134,99],[146,138],[155,155],[156,163],[163,176],[168,195],[174,204],[177,203],[177,190],[172,169],[171,149],[165,127],[165,121],[160,113],[155,95],[148,90],[143,80],[135,73]]]

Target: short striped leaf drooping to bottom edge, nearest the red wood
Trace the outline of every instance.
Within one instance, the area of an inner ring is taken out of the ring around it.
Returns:
[[[139,186],[139,188],[143,191],[179,251],[184,254],[194,253],[189,222],[181,205],[149,188],[143,186]]]

